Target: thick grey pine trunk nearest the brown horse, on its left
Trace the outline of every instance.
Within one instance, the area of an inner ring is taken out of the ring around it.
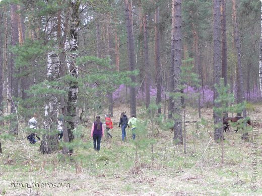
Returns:
[[[214,0],[213,3],[213,16],[214,16],[214,29],[213,29],[213,40],[214,40],[214,84],[220,85],[220,78],[222,76],[222,65],[221,65],[221,15],[220,15],[220,0]],[[214,88],[214,101],[218,98],[218,91]],[[220,108],[221,104],[214,102],[214,107]],[[217,127],[219,123],[222,123],[221,115],[214,112],[214,124],[215,133],[214,140],[222,139],[221,127]]]

